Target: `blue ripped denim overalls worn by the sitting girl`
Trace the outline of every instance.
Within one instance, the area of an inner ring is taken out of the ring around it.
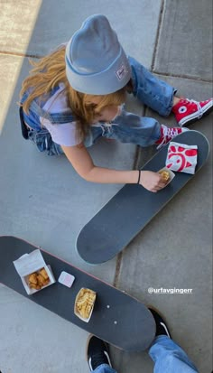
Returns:
[[[171,113],[173,104],[173,96],[176,89],[172,88],[166,82],[157,79],[153,74],[144,68],[138,61],[129,57],[129,62],[132,68],[133,94],[146,106],[151,107],[163,117],[167,117]],[[34,107],[33,107],[34,106]],[[42,116],[42,111],[36,104],[32,104],[33,117]],[[42,110],[42,109],[41,109]],[[51,115],[50,115],[51,117]],[[61,114],[58,115],[61,120]],[[29,126],[32,127],[33,120],[28,118]],[[57,114],[52,119],[57,122]],[[27,118],[25,118],[27,122]],[[62,154],[60,145],[53,143],[51,135],[45,128],[38,131],[33,128],[29,134],[30,139],[35,143],[38,149],[46,151],[49,155]],[[116,139],[122,143],[132,143],[140,146],[153,145],[161,135],[160,123],[152,117],[140,117],[133,113],[128,113],[123,107],[122,112],[110,123],[98,122],[94,126],[90,126],[88,137],[85,139],[85,145],[91,146],[96,143],[100,137]]]

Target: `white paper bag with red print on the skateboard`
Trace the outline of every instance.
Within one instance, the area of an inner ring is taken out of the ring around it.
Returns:
[[[197,158],[197,145],[172,142],[168,148],[166,167],[180,173],[195,173]]]

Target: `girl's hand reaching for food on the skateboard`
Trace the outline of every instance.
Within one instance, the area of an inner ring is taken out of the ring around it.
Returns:
[[[144,186],[147,191],[160,191],[167,182],[162,181],[162,176],[159,173],[152,171],[142,171],[140,185]]]

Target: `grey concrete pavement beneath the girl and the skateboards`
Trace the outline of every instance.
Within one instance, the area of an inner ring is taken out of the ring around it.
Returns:
[[[199,368],[211,366],[212,163],[144,228],[124,252],[88,266],[75,251],[86,222],[121,188],[85,182],[65,157],[40,154],[21,136],[17,104],[27,57],[66,42],[90,14],[106,14],[125,51],[179,89],[212,96],[211,0],[0,0],[0,235],[14,235],[115,284],[166,316],[171,335]],[[129,111],[174,125],[134,98]],[[212,115],[191,126],[212,139]],[[99,142],[95,163],[116,169],[142,165],[153,148]],[[148,288],[192,288],[192,294],[149,294]],[[88,333],[0,284],[2,373],[88,371]],[[118,373],[153,372],[146,352],[111,348]]]

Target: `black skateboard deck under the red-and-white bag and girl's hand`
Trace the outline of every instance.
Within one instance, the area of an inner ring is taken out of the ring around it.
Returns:
[[[173,141],[198,145],[198,173],[208,159],[208,139],[198,131],[191,130],[177,135]],[[163,146],[142,170],[158,172],[162,169],[165,166],[168,146]],[[147,191],[141,185],[126,184],[79,232],[76,243],[79,256],[94,265],[112,259],[193,176],[190,173],[175,173],[171,183],[157,193]]]

